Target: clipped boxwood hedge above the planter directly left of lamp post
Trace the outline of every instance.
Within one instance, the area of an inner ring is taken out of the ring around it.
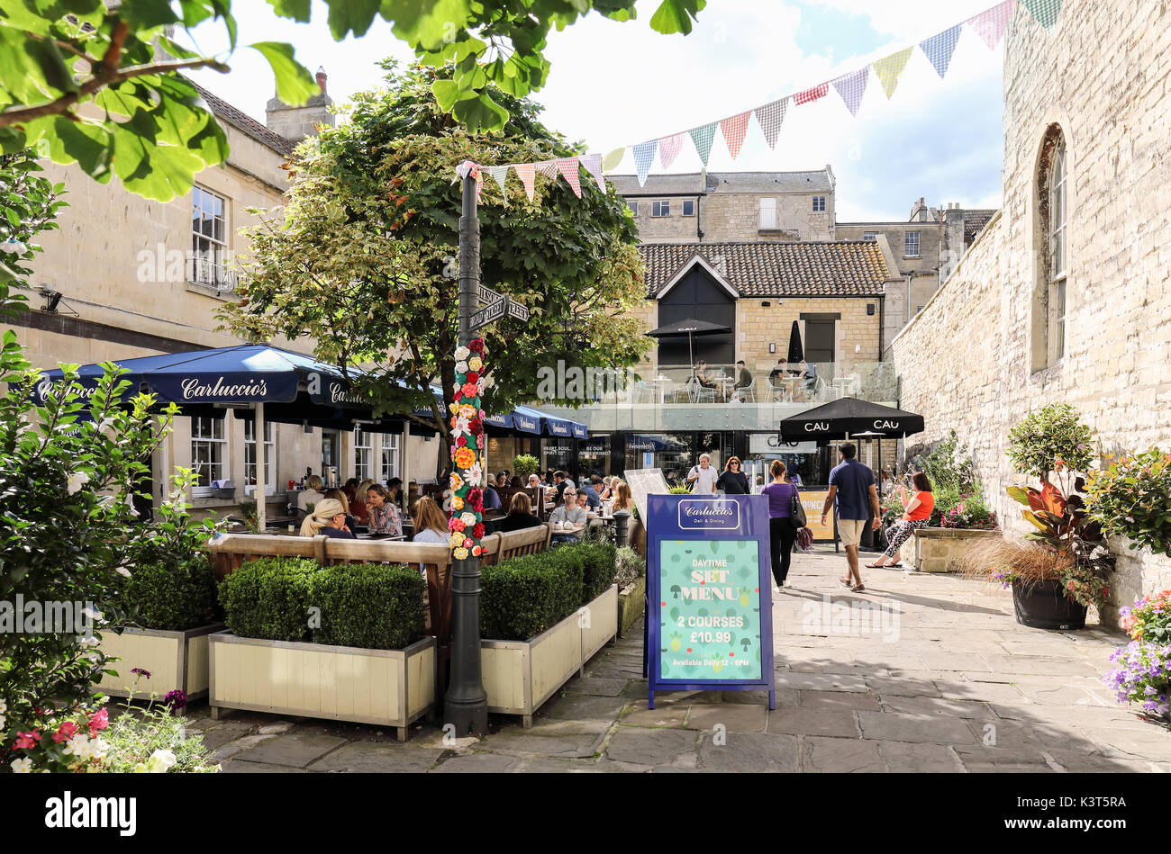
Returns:
[[[423,578],[400,565],[249,560],[224,579],[219,599],[241,638],[402,649],[423,636]]]

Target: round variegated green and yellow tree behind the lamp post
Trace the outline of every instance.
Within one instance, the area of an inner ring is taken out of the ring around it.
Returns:
[[[448,435],[458,324],[458,225],[464,160],[528,163],[577,153],[539,108],[493,92],[501,132],[470,133],[436,104],[444,71],[388,63],[389,88],[355,99],[352,122],[299,149],[283,208],[249,229],[242,295],[222,314],[237,335],[311,336],[317,358],[348,371],[384,412]],[[492,180],[479,207],[481,281],[530,311],[482,330],[488,412],[532,400],[537,371],[636,363],[648,343],[629,316],[644,297],[636,227],[623,199],[582,180],[536,177],[529,201],[511,173],[507,204]],[[356,365],[371,369],[359,378]],[[438,381],[437,401],[430,383]],[[561,399],[574,405],[580,400]]]

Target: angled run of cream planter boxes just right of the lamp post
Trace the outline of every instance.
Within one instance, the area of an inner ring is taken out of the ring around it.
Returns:
[[[521,715],[533,725],[541,708],[586,662],[618,632],[618,585],[553,628],[527,641],[480,641],[484,688],[488,711]]]

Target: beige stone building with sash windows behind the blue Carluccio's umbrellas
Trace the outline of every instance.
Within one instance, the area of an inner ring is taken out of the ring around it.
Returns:
[[[322,91],[304,108],[304,120],[296,108],[281,105],[281,130],[301,135],[304,128],[331,123],[324,110],[323,73],[319,83]],[[30,278],[34,288],[61,294],[61,301],[55,311],[47,311],[42,309],[46,301],[34,295],[32,310],[14,321],[18,339],[36,367],[241,343],[218,330],[215,312],[233,298],[232,257],[248,252],[239,233],[254,222],[248,208],[281,204],[288,180],[281,165],[300,136],[286,137],[211,92],[201,94],[227,133],[231,153],[220,166],[199,173],[193,191],[182,198],[160,204],[126,192],[117,180],[102,185],[75,166],[44,164],[46,175],[66,185],[69,206],[60,212],[60,229],[41,235],[44,252],[33,264]],[[272,343],[311,352],[304,339]],[[222,512],[240,498],[252,497],[254,487],[245,482],[246,453],[254,453],[255,446],[246,436],[245,421],[231,412],[218,423],[208,421],[176,419],[165,450],[156,454],[156,500],[164,488],[164,466],[191,467],[200,455],[214,459],[220,477],[235,481],[237,497],[215,500],[200,488],[193,496],[197,509]],[[384,470],[399,473],[404,447],[426,460],[427,474],[433,474],[436,446],[422,438],[372,434],[367,440],[352,432],[326,436],[320,428],[306,433],[300,425],[280,423],[268,425],[268,431],[266,481],[274,516],[285,509],[285,487],[274,484],[299,480],[306,468],[321,473],[327,445],[343,480],[355,474],[359,459],[369,461],[376,478]],[[361,453],[358,446],[364,446]]]

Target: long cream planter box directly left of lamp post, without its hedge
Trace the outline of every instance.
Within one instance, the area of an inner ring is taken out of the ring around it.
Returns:
[[[211,635],[212,717],[220,709],[354,721],[398,728],[423,717],[436,700],[436,639],[405,649]]]

